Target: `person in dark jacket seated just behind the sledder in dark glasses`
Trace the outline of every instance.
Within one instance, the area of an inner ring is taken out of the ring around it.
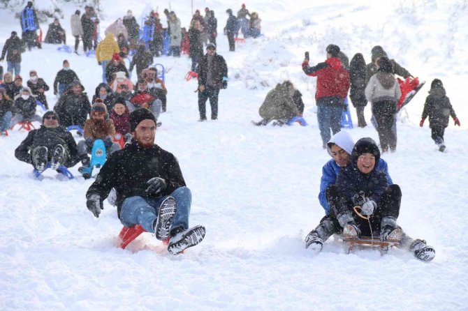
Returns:
[[[79,80],[73,80],[64,96],[54,106],[54,112],[60,117],[60,123],[67,128],[68,126],[80,126],[85,128],[85,121],[91,110],[91,104],[85,88]]]

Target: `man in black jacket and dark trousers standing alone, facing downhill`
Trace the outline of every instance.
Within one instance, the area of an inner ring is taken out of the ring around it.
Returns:
[[[228,87],[228,65],[224,57],[216,53],[216,45],[208,43],[207,53],[198,63],[198,112],[206,121],[206,101],[210,99],[211,119],[218,119],[219,90]]]

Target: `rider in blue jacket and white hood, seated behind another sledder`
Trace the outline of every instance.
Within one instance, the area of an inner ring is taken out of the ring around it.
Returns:
[[[338,132],[332,137],[332,139],[330,139],[330,142],[328,142],[328,151],[333,159],[328,161],[323,167],[323,176],[321,179],[321,189],[319,193],[319,200],[326,211],[326,216],[323,217],[320,224],[307,235],[305,239],[306,248],[318,252],[322,249],[323,241],[326,241],[330,236],[332,236],[332,234],[340,234],[343,231],[339,222],[336,220],[336,213],[333,213],[332,209],[330,209],[329,204],[333,200],[331,196],[334,194],[330,193],[332,190],[328,189],[336,189],[335,183],[337,182],[339,172],[345,168],[353,169],[353,166],[351,165],[353,144],[351,136],[345,131]],[[379,157],[379,159],[375,160],[374,167],[376,167],[374,171],[381,172],[381,175],[383,174],[386,177],[389,187],[392,188],[393,181],[390,179],[390,175],[388,174],[388,165],[386,162]],[[418,259],[432,260],[434,257],[434,250],[432,247],[427,246],[425,241],[420,239],[414,240],[402,231],[401,234],[401,248],[407,248],[411,252],[414,252],[414,255]],[[427,257],[427,253],[432,254],[432,256]]]

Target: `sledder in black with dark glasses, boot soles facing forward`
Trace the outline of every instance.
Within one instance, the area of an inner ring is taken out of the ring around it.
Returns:
[[[43,125],[30,130],[26,139],[15,150],[15,157],[43,172],[47,163],[51,169],[61,166],[73,167],[88,156],[79,155],[75,139],[64,127],[60,126],[56,112],[48,111],[43,115]]]

